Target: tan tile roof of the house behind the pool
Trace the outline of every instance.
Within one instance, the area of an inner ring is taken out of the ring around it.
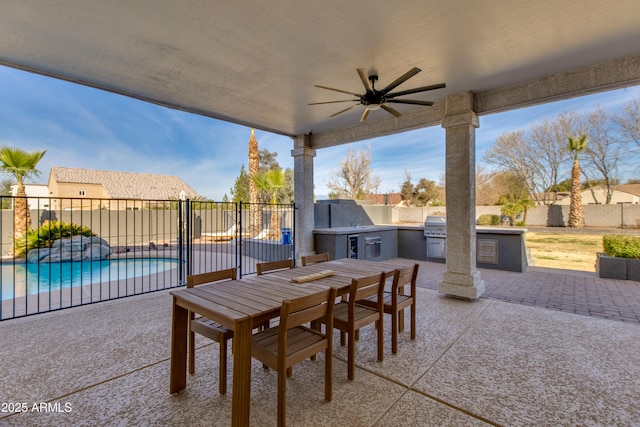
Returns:
[[[113,199],[178,199],[181,190],[189,199],[202,198],[177,176],[66,167],[52,167],[51,176],[58,183],[101,184]]]

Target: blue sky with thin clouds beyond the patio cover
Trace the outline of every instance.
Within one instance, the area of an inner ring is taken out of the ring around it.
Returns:
[[[505,132],[526,129],[565,111],[596,107],[615,111],[640,98],[640,86],[603,92],[505,113],[481,116],[476,129],[476,160]],[[240,168],[248,165],[251,129],[138,101],[62,80],[0,66],[0,145],[47,152],[38,163],[46,183],[51,167],[102,169],[175,175],[201,196],[231,198]],[[283,168],[293,168],[293,141],[256,130],[260,149],[277,152]],[[371,150],[371,170],[381,193],[397,192],[406,172],[441,180],[445,168],[445,131],[439,126],[319,149],[314,159],[315,194],[329,193],[349,148]],[[7,178],[5,177],[2,177]],[[630,178],[630,177],[623,177]]]

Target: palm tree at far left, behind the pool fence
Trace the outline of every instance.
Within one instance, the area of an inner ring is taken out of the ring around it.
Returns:
[[[27,193],[24,189],[24,180],[30,176],[40,175],[36,165],[46,152],[47,150],[28,153],[14,147],[3,146],[0,148],[0,170],[12,175],[18,183],[13,210],[14,237],[25,234],[31,224],[31,213],[29,212]]]

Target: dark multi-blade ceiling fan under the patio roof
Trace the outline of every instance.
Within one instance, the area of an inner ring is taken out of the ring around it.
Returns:
[[[402,76],[398,77],[396,80],[389,83],[385,88],[378,90],[376,89],[376,82],[378,81],[378,76],[376,74],[371,74],[367,77],[367,74],[363,68],[357,68],[356,70],[358,71],[360,80],[362,80],[362,84],[366,89],[366,92],[364,94],[360,95],[355,92],[349,92],[348,90],[335,89],[332,87],[322,86],[322,85],[315,85],[315,87],[319,87],[320,89],[328,89],[334,92],[353,95],[356,97],[356,99],[343,99],[340,101],[327,101],[327,102],[312,102],[309,105],[335,104],[338,102],[357,102],[357,104],[352,105],[349,108],[345,108],[344,110],[338,111],[337,113],[332,114],[329,117],[335,117],[338,114],[346,113],[347,111],[353,108],[356,108],[359,105],[364,105],[365,109],[364,109],[364,112],[362,113],[362,117],[360,118],[360,121],[364,122],[365,120],[367,120],[369,111],[377,110],[379,108],[386,110],[387,112],[393,114],[395,117],[400,117],[402,114],[398,110],[387,105],[389,103],[431,106],[433,105],[433,102],[419,101],[414,99],[396,99],[396,97],[403,96],[403,95],[410,95],[412,93],[425,92],[428,90],[442,89],[446,87],[444,83],[439,83],[431,86],[423,86],[415,89],[401,90],[399,92],[391,92],[393,89],[400,86],[402,83],[404,83],[405,81],[409,80],[411,77],[415,76],[420,71],[422,71],[418,67],[413,67],[411,70],[407,71]]]

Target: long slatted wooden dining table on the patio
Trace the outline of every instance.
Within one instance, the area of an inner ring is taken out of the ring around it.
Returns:
[[[179,392],[187,385],[187,321],[189,311],[218,322],[234,332],[231,425],[248,426],[251,395],[251,338],[255,327],[278,317],[282,301],[326,289],[338,295],[348,293],[351,279],[391,274],[405,267],[389,262],[339,259],[262,276],[209,283],[195,288],[171,291],[173,322],[171,332],[171,374],[169,391]],[[292,279],[331,273],[317,280],[294,283]]]

